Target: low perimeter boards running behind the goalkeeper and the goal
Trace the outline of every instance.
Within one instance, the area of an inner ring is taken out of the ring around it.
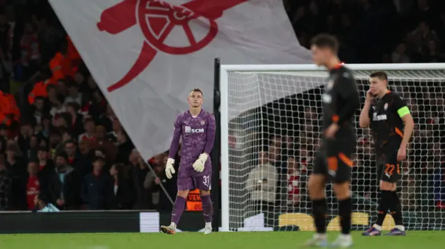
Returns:
[[[238,231],[312,231],[310,210],[270,210],[246,217]],[[369,227],[376,214],[353,213],[353,229]],[[405,214],[410,219],[409,230],[437,230],[445,221],[445,212],[429,215]],[[328,216],[328,230],[339,230],[339,218]],[[86,233],[86,232],[159,232],[160,224],[170,223],[170,212],[104,211],[104,212],[3,212],[0,213],[0,234],[36,233]],[[385,219],[384,227],[393,227],[391,217]],[[199,232],[204,230],[202,212],[184,212],[177,232]]]

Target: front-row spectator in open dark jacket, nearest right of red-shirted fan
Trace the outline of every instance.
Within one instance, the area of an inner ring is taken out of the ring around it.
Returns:
[[[48,196],[50,203],[59,209],[77,209],[80,205],[80,174],[68,164],[65,151],[56,155],[56,169],[49,175]]]

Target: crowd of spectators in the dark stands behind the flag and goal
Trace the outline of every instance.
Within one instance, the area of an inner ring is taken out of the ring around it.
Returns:
[[[444,2],[406,2],[412,8],[396,8],[386,0],[284,4],[302,46],[316,33],[335,34],[346,63],[444,62]],[[0,60],[0,210],[33,209],[37,194],[60,209],[171,209],[168,196],[174,199],[176,184],[163,173],[168,154],[144,162],[47,0],[0,0]],[[412,148],[405,172],[423,173],[405,175],[404,193],[410,196],[404,200],[425,200],[437,208],[445,207],[444,134],[428,130],[444,130],[442,86],[405,86],[419,93],[407,99],[419,128],[428,128],[414,135],[422,142],[412,144],[421,148]],[[277,108],[282,105],[267,109]],[[268,146],[252,151],[259,153],[259,164],[246,172],[246,187],[258,203],[307,203],[304,182],[319,140],[319,108],[307,103],[292,108],[301,114],[297,131],[270,130],[277,135]],[[280,120],[271,122],[281,126]],[[374,198],[378,184],[364,176],[373,169],[369,155],[371,138],[363,131],[353,177],[363,182],[355,191]],[[254,194],[265,169],[273,175],[263,182],[270,187],[262,190],[266,194]],[[415,191],[418,187],[425,191]],[[421,198],[425,193],[430,197]]]

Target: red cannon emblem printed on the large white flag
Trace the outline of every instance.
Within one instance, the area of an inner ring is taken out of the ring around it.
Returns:
[[[115,35],[139,24],[145,36],[140,55],[133,67],[121,80],[108,87],[108,92],[113,92],[136,78],[148,67],[158,51],[184,55],[203,49],[218,34],[216,19],[222,17],[225,10],[246,1],[248,0],[192,0],[181,6],[174,6],[159,0],[124,0],[104,10],[97,23],[99,31]],[[192,20],[207,27],[207,35],[196,39],[190,25]],[[165,44],[165,39],[177,27],[183,29],[188,41],[184,41],[184,46]]]

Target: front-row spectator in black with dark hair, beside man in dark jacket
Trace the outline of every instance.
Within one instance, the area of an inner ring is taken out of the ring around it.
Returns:
[[[129,169],[124,164],[113,164],[110,169],[113,178],[113,209],[131,209],[136,201],[136,191],[131,182]]]

